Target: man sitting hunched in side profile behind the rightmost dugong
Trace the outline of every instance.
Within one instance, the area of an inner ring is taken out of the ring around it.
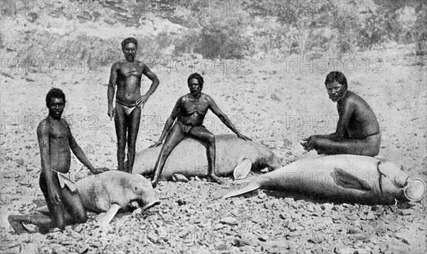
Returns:
[[[338,71],[327,75],[325,85],[332,102],[337,102],[337,131],[303,139],[305,143],[301,144],[304,149],[315,149],[318,154],[376,156],[381,134],[371,107],[359,95],[347,90],[347,79]]]

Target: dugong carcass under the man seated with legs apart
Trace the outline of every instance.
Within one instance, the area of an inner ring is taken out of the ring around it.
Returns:
[[[246,167],[246,174],[250,169],[278,169],[281,160],[267,147],[253,141],[239,139],[235,135],[217,135],[216,142],[216,169],[217,176],[228,176],[238,165]],[[135,157],[132,173],[150,176],[154,173],[154,166],[162,147],[142,150]],[[208,159],[206,149],[194,139],[186,138],[181,141],[167,158],[162,171],[162,179],[172,179],[175,174],[184,176],[206,176]],[[235,174],[236,177],[236,174]]]

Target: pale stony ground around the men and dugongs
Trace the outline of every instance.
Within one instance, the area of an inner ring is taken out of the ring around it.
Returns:
[[[380,156],[426,181],[426,59],[413,55],[411,47],[359,53],[354,56],[357,70],[337,69],[379,118]],[[177,97],[188,91],[186,77],[194,71],[204,73],[204,92],[238,129],[273,149],[285,163],[314,156],[304,153],[301,139],[336,127],[335,105],[323,85],[332,68],[320,71],[315,61],[313,69],[295,65],[297,58],[189,60],[162,59],[166,64],[152,65],[161,85],[144,107],[138,151],[158,139]],[[81,68],[51,73],[2,70],[1,253],[426,253],[426,199],[362,206],[269,191],[220,199],[245,186],[232,179],[224,179],[222,186],[204,179],[161,182],[159,206],[122,213],[109,226],[96,228],[91,213],[88,223],[63,232],[16,236],[7,216],[31,213],[39,205],[34,201],[43,197],[36,126],[47,115],[44,97],[50,88],[64,90],[64,117],[90,161],[117,167],[114,124],[107,117],[108,74],[109,67],[83,73]],[[147,79],[142,86],[148,88]],[[230,133],[214,115],[206,117],[206,127],[216,134]],[[71,171],[78,179],[88,170],[73,157]]]

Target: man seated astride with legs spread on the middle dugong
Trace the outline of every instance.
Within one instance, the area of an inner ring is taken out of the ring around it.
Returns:
[[[201,92],[204,80],[198,73],[193,73],[189,76],[187,83],[189,85],[190,93],[180,97],[175,104],[172,114],[168,117],[162,135],[152,147],[157,147],[164,144],[157,159],[154,168],[154,178],[152,181],[153,186],[157,185],[159,176],[162,174],[164,163],[169,157],[174,147],[181,142],[184,137],[191,137],[199,140],[206,147],[206,155],[208,157],[208,175],[211,181],[221,184],[221,179],[215,175],[215,136],[203,126],[204,117],[208,110],[214,112],[228,128],[230,128],[238,137],[244,140],[251,140],[244,136],[228,117],[219,109],[214,100]],[[177,118],[177,120],[176,120]],[[175,124],[174,121],[176,120]],[[172,126],[173,125],[173,126]],[[165,139],[166,137],[166,139]]]

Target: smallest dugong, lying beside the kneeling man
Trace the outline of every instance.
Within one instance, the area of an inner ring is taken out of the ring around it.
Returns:
[[[141,206],[146,210],[160,203],[152,184],[144,176],[122,171],[105,171],[76,182],[86,211],[106,212],[97,223],[109,223],[117,211]]]

